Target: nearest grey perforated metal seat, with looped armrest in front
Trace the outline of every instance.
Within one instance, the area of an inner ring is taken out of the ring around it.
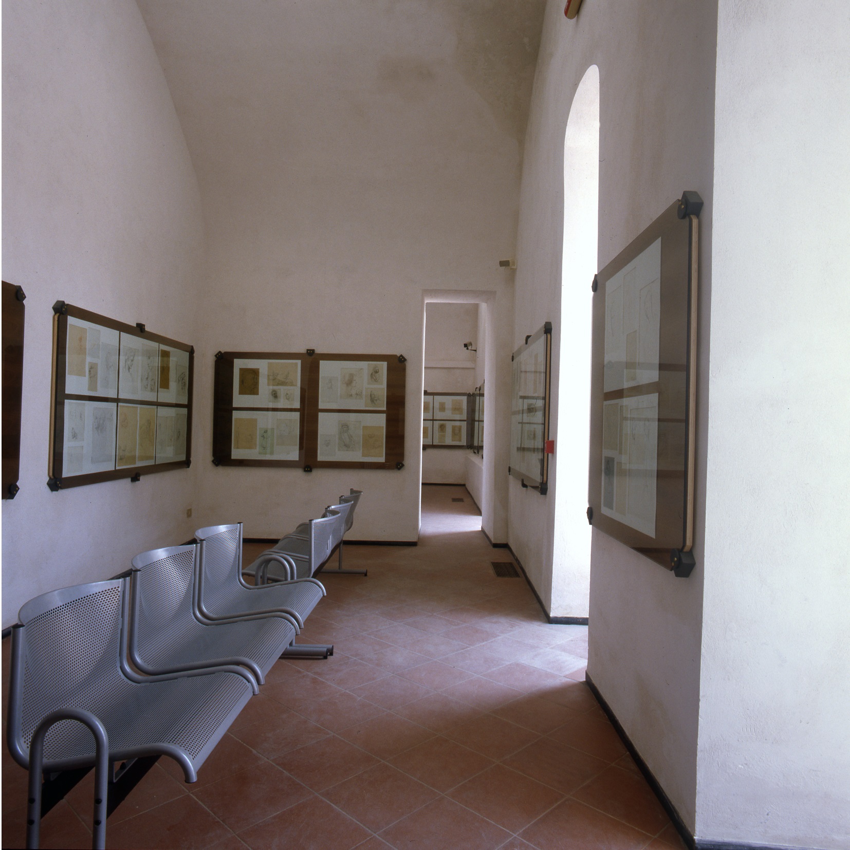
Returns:
[[[133,671],[125,654],[128,591],[127,579],[99,581],[45,593],[20,609],[7,740],[14,760],[31,771],[28,847],[38,845],[42,811],[96,761],[94,846],[103,847],[106,816],[156,759],[172,757],[194,782],[257,691],[243,667],[156,677]],[[118,762],[127,763],[116,771]]]

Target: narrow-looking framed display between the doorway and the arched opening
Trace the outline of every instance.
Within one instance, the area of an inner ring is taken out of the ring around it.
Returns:
[[[513,352],[511,383],[511,465],[508,472],[524,487],[548,490],[549,382],[552,374],[552,322],[525,337]]]

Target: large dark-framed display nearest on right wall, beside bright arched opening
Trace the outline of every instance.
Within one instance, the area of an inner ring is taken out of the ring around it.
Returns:
[[[689,575],[700,196],[685,192],[594,280],[588,519]]]

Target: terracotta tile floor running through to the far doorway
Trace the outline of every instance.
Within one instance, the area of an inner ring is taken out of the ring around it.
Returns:
[[[584,683],[587,628],[547,625],[479,529],[466,490],[426,486],[418,547],[348,547],[368,578],[323,576],[299,638],[332,658],[279,661],[195,785],[162,758],[107,846],[683,847]],[[42,847],[90,846],[91,788]],[[4,748],[3,847],[23,846],[25,797]]]

